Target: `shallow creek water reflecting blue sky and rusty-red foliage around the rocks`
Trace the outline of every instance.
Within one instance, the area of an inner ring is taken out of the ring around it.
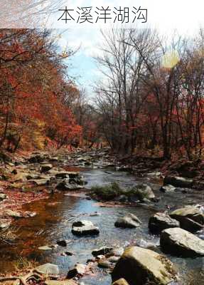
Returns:
[[[60,272],[66,274],[76,262],[85,264],[92,258],[92,250],[102,246],[127,247],[136,242],[151,242],[156,252],[159,248],[159,237],[149,234],[148,221],[152,214],[165,211],[166,205],[176,209],[185,204],[200,204],[201,193],[178,190],[173,193],[159,192],[159,181],[153,182],[148,177],[138,178],[127,172],[117,172],[111,169],[82,170],[87,181],[87,187],[104,185],[117,181],[122,187],[131,187],[140,182],[149,184],[157,197],[161,199],[152,205],[138,204],[132,206],[102,207],[95,200],[84,197],[66,196],[64,193],[55,194],[48,199],[33,202],[23,206],[23,210],[36,212],[36,217],[18,219],[15,222],[18,238],[15,244],[0,244],[0,271],[8,272],[15,269],[19,257],[35,259],[39,264],[50,262],[58,264]],[[94,212],[100,215],[90,215]],[[126,213],[136,214],[141,219],[141,227],[136,229],[119,229],[114,227],[117,217]],[[97,237],[75,237],[71,232],[73,222],[78,219],[87,219],[100,227]],[[198,233],[200,237],[202,233]],[[51,251],[38,249],[47,244],[55,244],[60,239],[69,239],[68,247],[58,247]],[[62,256],[63,252],[73,252],[73,256]],[[179,272],[182,285],[204,285],[203,258],[183,259],[167,255]],[[85,276],[81,280],[87,285],[109,285],[111,276],[104,269],[94,269],[95,274]]]

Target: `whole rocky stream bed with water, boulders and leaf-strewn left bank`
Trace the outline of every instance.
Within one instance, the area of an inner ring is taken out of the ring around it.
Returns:
[[[203,285],[202,190],[190,178],[168,176],[163,185],[159,168],[128,170],[107,150],[33,153],[6,162],[0,273],[14,275],[24,259],[38,266],[28,279],[0,284]],[[95,185],[114,182],[124,190],[114,199],[90,195]],[[20,198],[12,201],[16,190]],[[29,203],[20,202],[23,195]]]

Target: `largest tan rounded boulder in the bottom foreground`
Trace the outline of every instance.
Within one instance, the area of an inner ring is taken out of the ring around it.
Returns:
[[[150,249],[129,247],[112,272],[112,281],[124,278],[129,285],[166,285],[176,278],[171,261]]]

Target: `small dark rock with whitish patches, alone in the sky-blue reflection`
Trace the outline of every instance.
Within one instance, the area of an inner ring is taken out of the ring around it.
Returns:
[[[72,232],[77,236],[83,236],[87,234],[99,234],[100,230],[92,222],[82,220],[73,223]]]

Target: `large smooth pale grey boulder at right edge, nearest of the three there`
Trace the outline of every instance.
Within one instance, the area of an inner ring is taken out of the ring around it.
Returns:
[[[163,252],[168,252],[176,256],[204,256],[204,241],[179,227],[163,230],[161,232],[160,245]]]

